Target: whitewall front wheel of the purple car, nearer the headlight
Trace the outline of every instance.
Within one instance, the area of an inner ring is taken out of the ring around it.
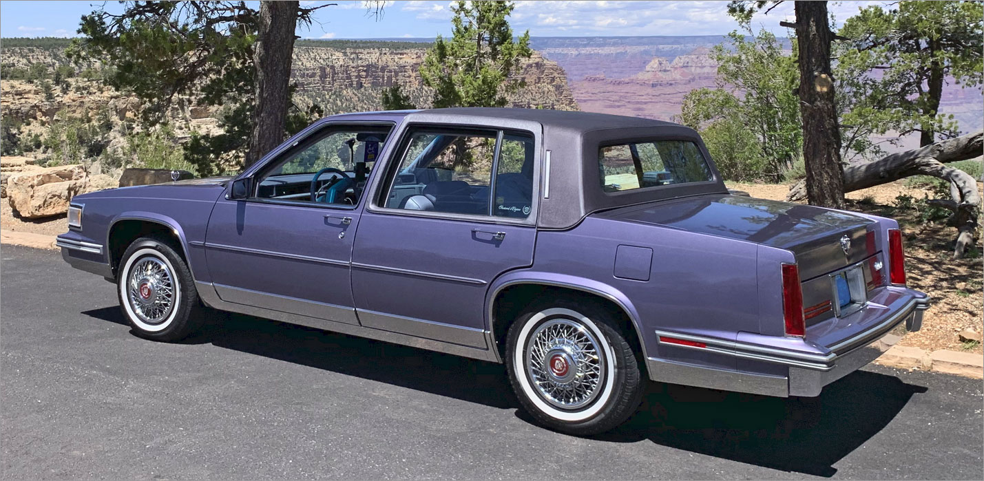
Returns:
[[[130,244],[116,284],[123,315],[141,336],[176,341],[198,329],[202,316],[191,271],[166,242],[142,237]]]

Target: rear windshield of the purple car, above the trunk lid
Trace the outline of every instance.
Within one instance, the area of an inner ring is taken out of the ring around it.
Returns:
[[[598,149],[601,188],[608,193],[713,180],[690,141],[652,141]]]

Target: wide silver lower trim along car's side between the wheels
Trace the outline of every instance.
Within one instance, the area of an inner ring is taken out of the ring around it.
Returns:
[[[384,342],[392,342],[394,344],[401,344],[401,345],[416,347],[420,349],[444,352],[447,354],[468,357],[471,359],[499,362],[497,356],[495,356],[495,354],[491,349],[469,347],[467,345],[461,345],[461,344],[456,344],[453,342],[447,342],[442,340],[428,339],[425,337],[418,337],[415,335],[408,335],[400,332],[383,331],[379,329],[367,328],[364,326],[358,326],[354,324],[340,323],[338,321],[313,318],[310,316],[303,316],[300,314],[291,314],[288,312],[275,311],[273,309],[266,309],[266,308],[260,308],[254,306],[247,306],[244,304],[236,304],[233,302],[226,302],[218,297],[218,293],[215,291],[215,287],[212,282],[195,281],[195,287],[198,289],[199,298],[202,299],[202,301],[207,306],[220,311],[227,311],[227,312],[238,313],[238,314],[246,314],[249,316],[256,316],[259,318],[272,319],[274,321],[296,324],[299,326],[306,326],[308,328],[315,328],[322,331],[333,331],[333,332],[339,332],[348,335],[366,337],[369,339],[382,340]],[[481,336],[484,337],[485,335],[486,333],[482,331]]]

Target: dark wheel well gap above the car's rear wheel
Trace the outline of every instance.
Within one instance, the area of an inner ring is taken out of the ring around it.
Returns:
[[[492,300],[492,335],[496,342],[494,348],[499,350],[499,355],[502,358],[506,356],[506,335],[510,326],[513,325],[513,322],[516,321],[526,306],[541,296],[574,298],[578,302],[590,302],[615,314],[619,328],[625,333],[626,339],[632,344],[639,356],[643,356],[643,344],[635,326],[633,326],[632,319],[618,303],[580,289],[523,283],[504,288]]]

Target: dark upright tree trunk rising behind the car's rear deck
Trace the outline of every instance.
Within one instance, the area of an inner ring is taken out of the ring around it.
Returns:
[[[827,2],[796,2],[799,46],[799,99],[803,117],[803,159],[810,204],[844,207],[840,168],[840,127],[830,75],[830,32]]]

